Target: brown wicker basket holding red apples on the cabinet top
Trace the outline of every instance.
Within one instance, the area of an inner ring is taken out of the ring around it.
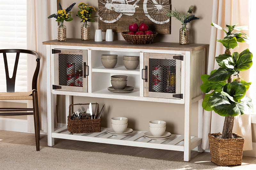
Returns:
[[[121,32],[125,41],[129,44],[151,44],[156,38],[157,32],[153,32],[151,35],[131,35],[128,32]]]

